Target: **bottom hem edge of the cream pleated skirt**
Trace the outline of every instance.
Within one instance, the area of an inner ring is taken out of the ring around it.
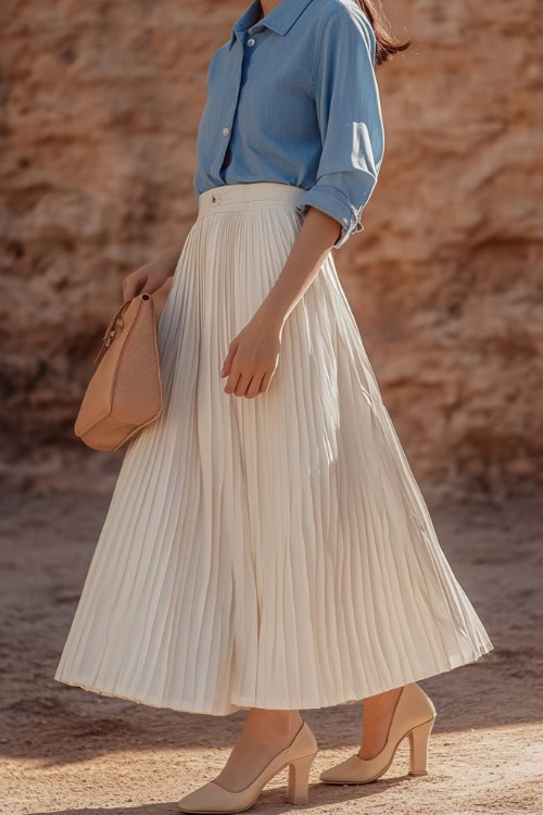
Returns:
[[[403,681],[394,684],[390,687],[380,686],[379,688],[371,688],[371,689],[365,689],[364,692],[361,694],[358,691],[353,691],[352,694],[350,694],[346,699],[343,697],[342,699],[336,699],[334,701],[325,701],[319,702],[317,704],[314,703],[304,703],[303,705],[295,705],[294,707],[291,707],[290,702],[280,702],[277,701],[273,705],[269,703],[266,705],[263,705],[261,703],[256,703],[254,699],[249,699],[248,697],[238,697],[236,700],[230,701],[230,707],[229,709],[217,709],[217,707],[197,707],[194,705],[191,705],[188,702],[180,702],[178,704],[165,704],[160,702],[151,701],[150,699],[143,699],[141,697],[137,697],[135,694],[125,694],[113,690],[105,690],[103,688],[98,688],[94,685],[88,685],[84,681],[78,681],[76,679],[67,679],[67,678],[60,678],[54,677],[54,679],[59,682],[63,682],[64,685],[70,685],[72,687],[81,688],[83,690],[90,691],[92,693],[98,693],[101,697],[110,697],[114,699],[123,699],[127,702],[135,702],[136,704],[144,704],[150,707],[160,707],[171,711],[176,711],[178,713],[201,713],[203,715],[210,715],[210,716],[228,716],[231,713],[237,713],[241,710],[249,710],[250,707],[266,707],[266,710],[318,710],[320,707],[334,707],[339,704],[354,704],[356,702],[361,702],[364,699],[367,699],[368,697],[376,695],[377,693],[384,693],[388,690],[393,690],[394,688],[403,687],[403,685],[407,685],[408,682],[417,682],[422,679],[429,679],[432,676],[438,676],[439,674],[444,674],[449,670],[453,670],[454,668],[462,667],[463,665],[469,665],[473,662],[477,662],[481,659],[484,654],[489,653],[494,649],[494,645],[490,640],[487,640],[481,644],[481,647],[477,650],[473,650],[473,652],[469,656],[465,656],[464,654],[455,654],[450,657],[449,663],[446,666],[433,666],[431,668],[422,668],[420,672],[413,672],[412,676],[404,678]],[[313,700],[315,702],[315,700]]]

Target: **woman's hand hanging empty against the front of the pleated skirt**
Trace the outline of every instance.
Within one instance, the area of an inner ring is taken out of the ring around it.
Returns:
[[[232,339],[219,372],[228,377],[225,393],[253,399],[267,391],[279,363],[282,323],[257,312]]]

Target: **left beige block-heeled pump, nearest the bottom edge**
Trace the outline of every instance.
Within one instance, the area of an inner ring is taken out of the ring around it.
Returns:
[[[289,786],[285,800],[289,804],[306,804],[310,800],[310,769],[317,752],[317,740],[307,723],[304,722],[291,743],[275,758],[272,758],[249,787],[231,792],[217,781],[207,781],[203,787],[185,795],[178,802],[178,807],[181,812],[243,812],[254,804],[263,787],[287,764],[289,765]]]

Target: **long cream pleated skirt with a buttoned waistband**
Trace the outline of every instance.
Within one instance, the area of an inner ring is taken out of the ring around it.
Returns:
[[[304,190],[199,197],[159,321],[165,406],[128,442],[54,678],[226,715],[355,702],[493,645],[440,548],[332,252],[269,389],[225,393]]]

